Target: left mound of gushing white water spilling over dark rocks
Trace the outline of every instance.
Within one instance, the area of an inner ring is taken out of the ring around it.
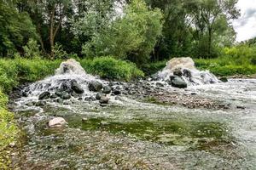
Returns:
[[[68,91],[71,88],[73,82],[79,84],[79,87],[84,90],[81,96],[90,96],[94,94],[88,88],[89,82],[101,82],[97,77],[87,74],[83,67],[75,59],[67,59],[61,63],[60,67],[55,70],[55,75],[46,77],[44,80],[32,83],[25,89],[27,96],[23,98],[25,103],[27,101],[38,100],[38,96],[44,92],[55,94],[56,91]],[[22,99],[21,99],[22,100]]]

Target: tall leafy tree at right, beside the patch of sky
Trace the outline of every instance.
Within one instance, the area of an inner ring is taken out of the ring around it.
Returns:
[[[207,48],[207,58],[212,57],[212,37],[216,32],[220,34],[219,26],[228,29],[228,21],[238,18],[240,13],[236,3],[237,0],[194,0],[186,3],[199,43],[206,42],[204,48]]]

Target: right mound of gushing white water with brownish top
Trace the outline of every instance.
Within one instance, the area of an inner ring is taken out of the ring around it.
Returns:
[[[211,72],[197,70],[193,59],[189,57],[171,59],[166,63],[166,67],[157,73],[157,76],[163,81],[169,81],[172,76],[182,77],[188,85],[219,82]]]

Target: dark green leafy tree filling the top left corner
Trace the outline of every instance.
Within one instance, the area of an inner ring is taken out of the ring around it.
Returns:
[[[0,2],[0,56],[22,52],[22,46],[30,37],[36,38],[36,30],[28,14],[19,13],[13,1]],[[20,22],[22,20],[22,22]]]

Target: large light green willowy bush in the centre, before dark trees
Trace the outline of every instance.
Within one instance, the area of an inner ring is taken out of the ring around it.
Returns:
[[[133,0],[124,13],[84,44],[86,56],[131,56],[136,63],[148,59],[161,34],[160,10],[150,10],[142,0]]]

